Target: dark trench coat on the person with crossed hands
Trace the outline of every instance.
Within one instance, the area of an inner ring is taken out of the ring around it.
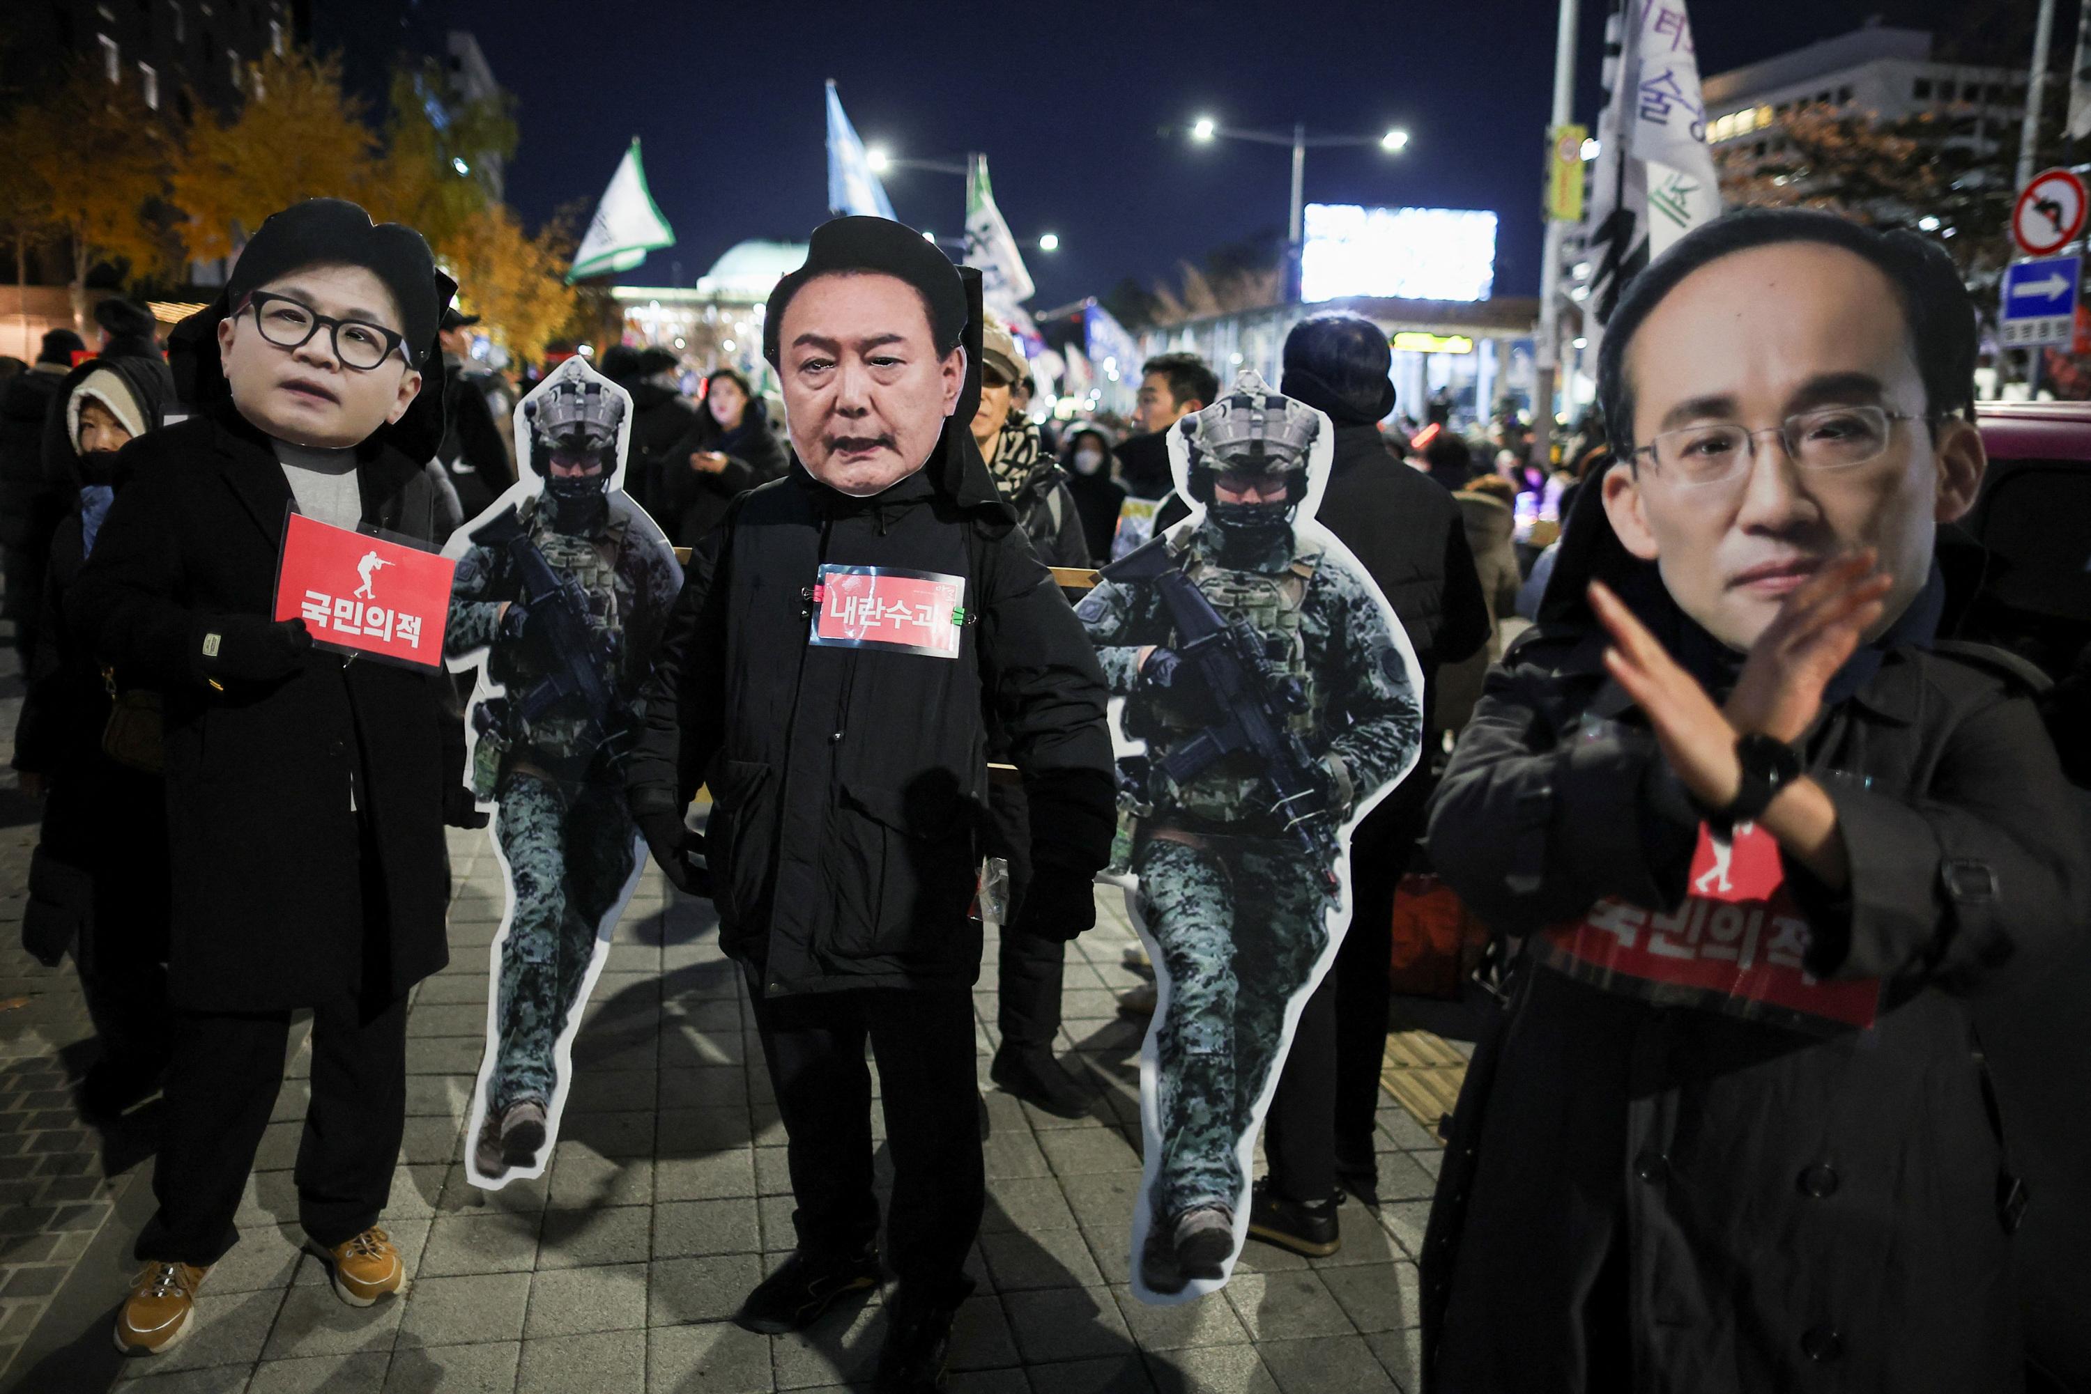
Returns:
[[[1698,815],[1602,652],[1575,625],[1514,648],[1432,800],[1432,861],[1499,934],[1683,901]],[[1920,644],[1807,763],[1848,775],[1823,784],[1853,876],[1832,897],[1786,867],[1807,963],[1880,978],[1880,1018],[1815,1037],[1524,968],[1432,1208],[1428,1388],[1595,1390],[1589,1346],[1631,1361],[1606,1394],[2022,1388],[1970,999],[2085,934],[2074,792],[2009,669]]]

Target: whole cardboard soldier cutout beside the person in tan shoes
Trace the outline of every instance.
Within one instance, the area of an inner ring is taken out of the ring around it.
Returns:
[[[638,692],[682,587],[675,550],[625,491],[631,397],[569,357],[514,414],[514,483],[452,537],[445,654],[477,669],[473,792],[508,880],[466,1175],[544,1175],[581,1003],[646,865],[625,813]]]

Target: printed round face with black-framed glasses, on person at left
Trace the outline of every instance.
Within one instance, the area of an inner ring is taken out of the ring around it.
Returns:
[[[272,437],[347,449],[397,422],[420,391],[385,282],[360,265],[307,265],[255,288],[217,324],[240,416]]]

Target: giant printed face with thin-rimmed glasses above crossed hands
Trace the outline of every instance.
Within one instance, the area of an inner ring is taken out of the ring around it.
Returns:
[[[1974,424],[1926,401],[1897,286],[1842,247],[1708,261],[1639,326],[1625,376],[1633,468],[1604,479],[1612,529],[1736,650],[1865,548],[1892,579],[1876,637],[1924,587],[1936,525],[1982,483]]]

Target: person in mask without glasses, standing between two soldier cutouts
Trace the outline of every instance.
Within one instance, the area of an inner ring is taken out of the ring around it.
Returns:
[[[627,777],[654,859],[717,905],[788,1135],[799,1244],[742,1302],[751,1331],[880,1281],[866,1043],[878,1060],[899,1279],[882,1394],[937,1388],[972,1287],[989,727],[1031,809],[1018,930],[1094,924],[1115,821],[1102,673],[968,431],[981,326],[979,274],[912,228],[813,232],[763,320],[792,470],[694,558]],[[700,784],[703,836],[684,821]]]

